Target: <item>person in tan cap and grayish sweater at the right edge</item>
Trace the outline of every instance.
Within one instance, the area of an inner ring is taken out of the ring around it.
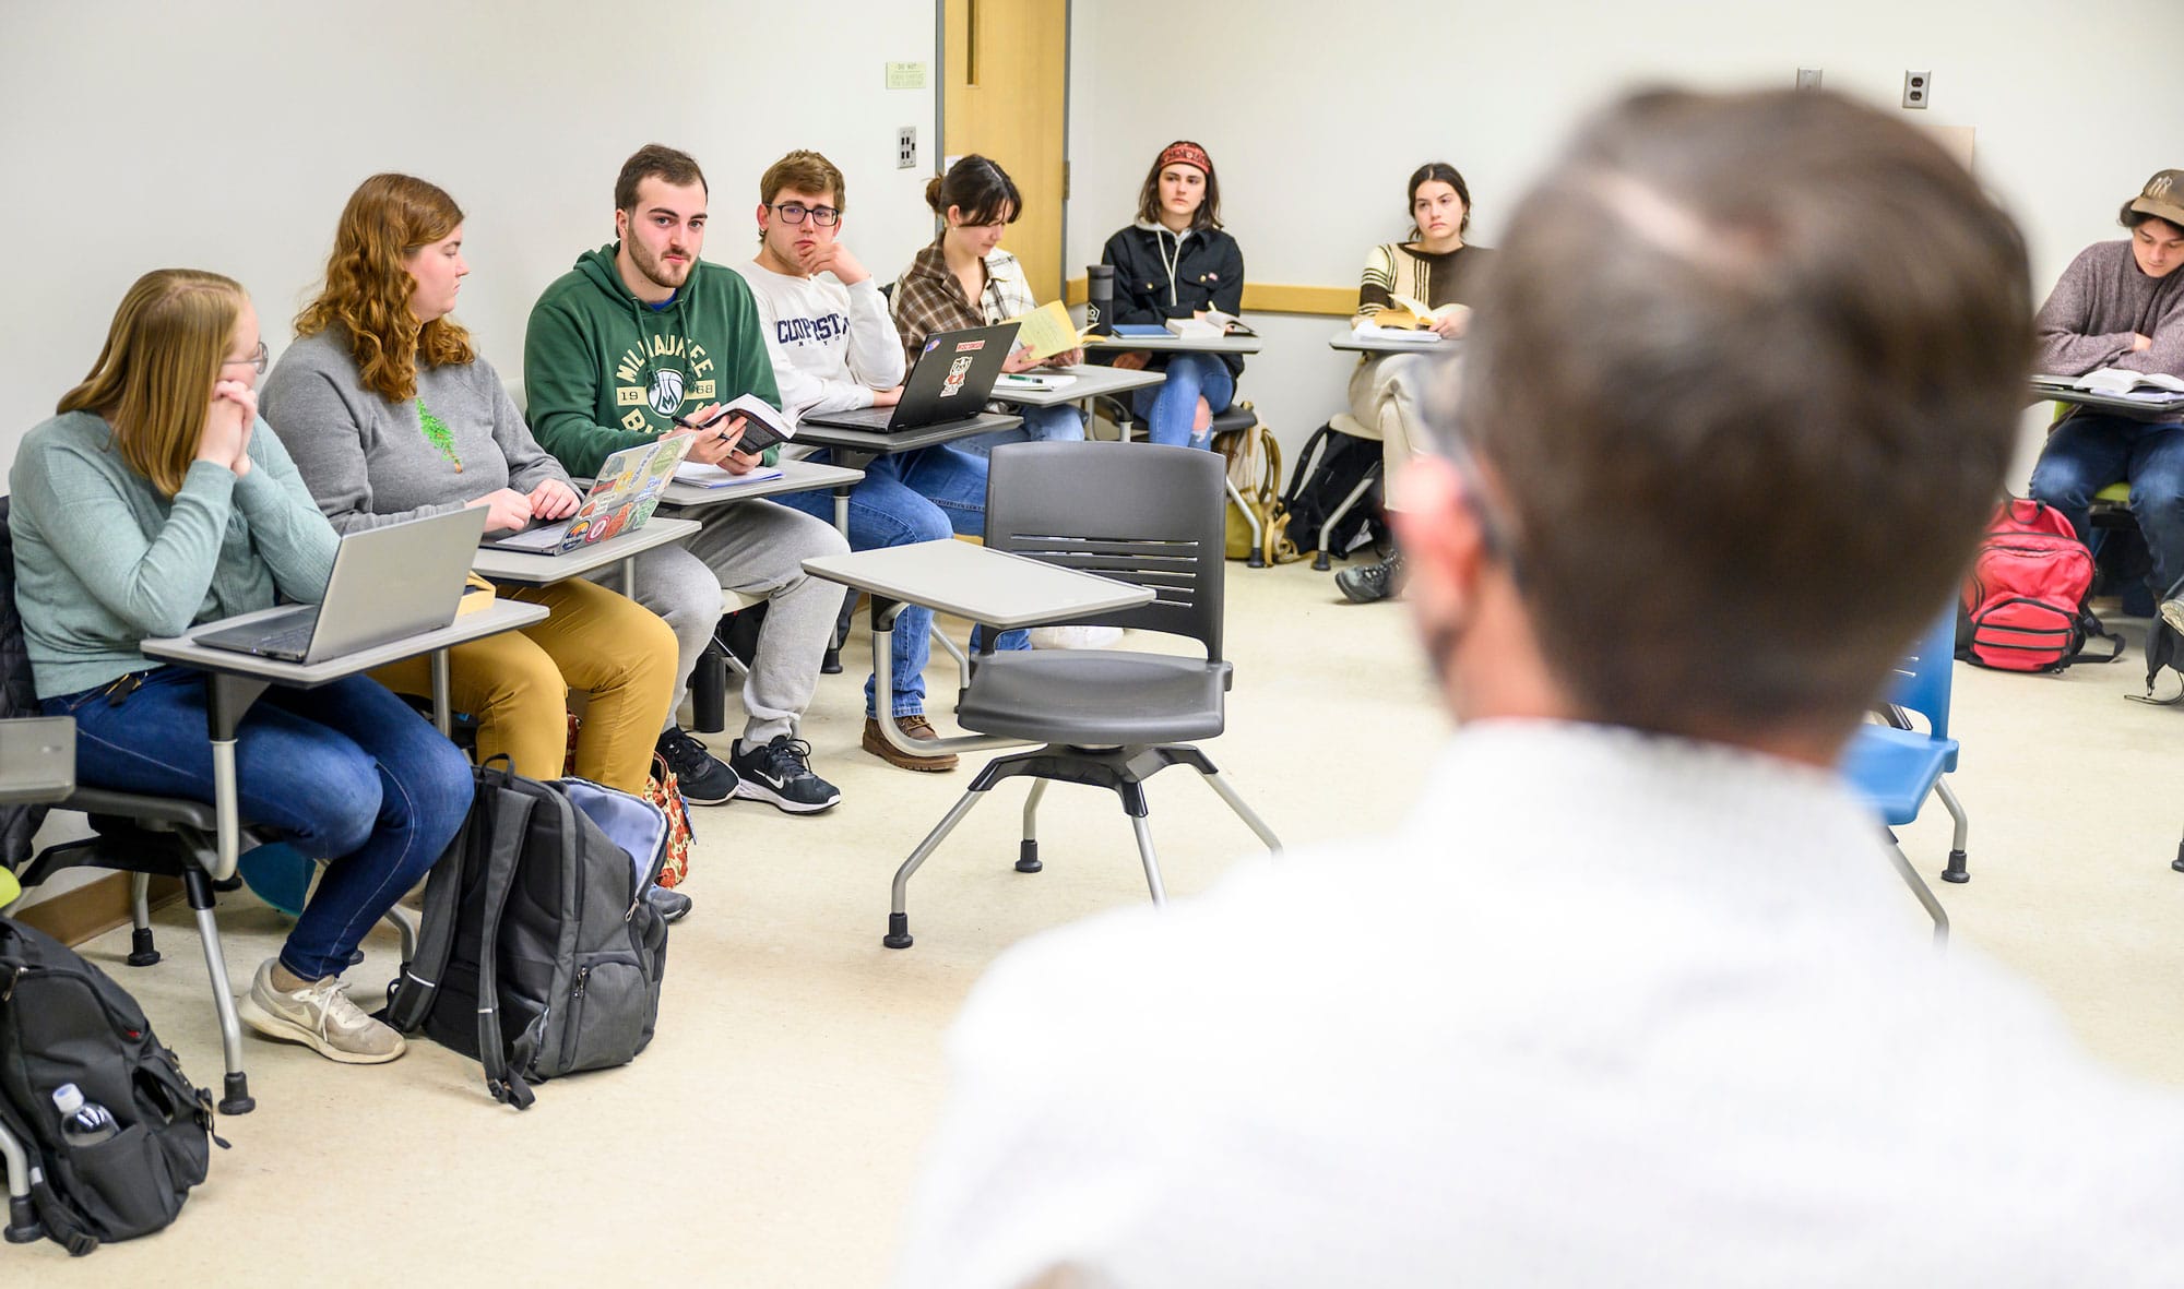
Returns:
[[[2040,306],[2035,371],[2184,376],[2184,170],[2156,173],[2116,218],[2129,240],[2079,251]],[[2184,631],[2184,417],[2073,406],[2033,465],[2031,494],[2090,537],[2092,494],[2116,481],[2132,485],[2162,620]]]

